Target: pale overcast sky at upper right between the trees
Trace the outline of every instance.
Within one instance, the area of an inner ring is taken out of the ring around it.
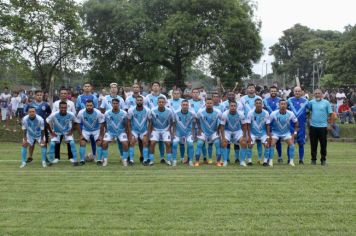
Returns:
[[[355,0],[254,0],[257,3],[256,19],[261,20],[261,38],[264,55],[253,71],[271,73],[273,57],[269,47],[278,42],[283,31],[300,23],[311,29],[343,31],[346,25],[356,24]],[[263,64],[263,72],[262,72]]]

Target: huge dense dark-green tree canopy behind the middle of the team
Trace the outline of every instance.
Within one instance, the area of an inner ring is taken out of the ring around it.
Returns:
[[[262,48],[252,16],[249,2],[238,0],[89,0],[83,14],[96,67],[123,79],[164,67],[178,86],[201,55],[223,79],[251,73]]]

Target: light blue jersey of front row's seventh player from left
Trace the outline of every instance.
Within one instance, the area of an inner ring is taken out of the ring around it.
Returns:
[[[193,110],[187,113],[176,111],[174,113],[174,122],[176,124],[176,134],[178,137],[188,137],[192,134],[192,127],[195,123],[196,114]]]

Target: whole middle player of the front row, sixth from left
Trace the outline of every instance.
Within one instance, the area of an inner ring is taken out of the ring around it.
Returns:
[[[171,109],[166,108],[166,98],[158,98],[158,107],[153,108],[149,114],[149,134],[150,134],[150,160],[145,165],[154,164],[154,151],[156,143],[162,141],[167,149],[167,165],[172,165],[172,152],[171,152],[171,128],[173,123],[173,112]],[[162,158],[162,157],[161,157]],[[164,156],[163,156],[164,158]],[[161,159],[162,160],[162,159]],[[164,160],[164,159],[163,159]]]

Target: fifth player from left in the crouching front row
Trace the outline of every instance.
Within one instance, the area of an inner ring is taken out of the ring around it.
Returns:
[[[141,161],[143,164],[148,163],[148,117],[150,110],[143,105],[144,99],[142,96],[136,97],[136,106],[131,107],[128,111],[128,134],[130,137],[129,155],[133,160],[135,156],[135,144],[141,140],[142,146],[140,146]]]

